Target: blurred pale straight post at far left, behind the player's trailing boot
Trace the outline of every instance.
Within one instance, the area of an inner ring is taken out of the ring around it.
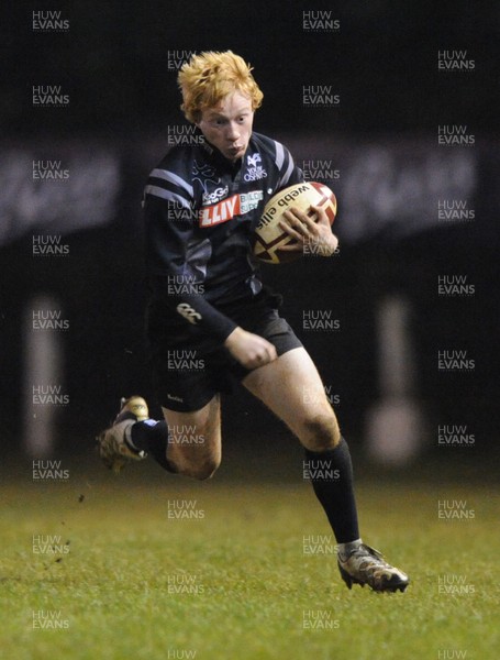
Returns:
[[[54,393],[62,387],[63,346],[54,318],[60,317],[55,298],[40,295],[24,310],[23,418],[24,449],[42,459],[54,450],[57,405]]]

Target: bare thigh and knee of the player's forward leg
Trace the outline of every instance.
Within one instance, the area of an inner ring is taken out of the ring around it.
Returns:
[[[338,443],[335,413],[305,349],[293,349],[256,369],[243,380],[243,385],[282,419],[308,449],[322,451]]]

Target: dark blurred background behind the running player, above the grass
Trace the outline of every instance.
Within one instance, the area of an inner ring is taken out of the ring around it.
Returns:
[[[34,26],[33,12],[47,11],[59,12],[59,28]],[[12,6],[3,32],[5,455],[30,447],[35,457],[88,455],[121,395],[143,393],[159,414],[143,336],[142,187],[186,135],[179,64],[195,51],[231,48],[255,67],[265,95],[255,129],[284,141],[338,199],[340,254],[266,267],[265,277],[284,294],[355,452],[395,465],[491,464],[500,396],[497,2],[88,0]],[[468,68],[438,68],[438,52]],[[33,86],[69,101],[34,105]],[[340,102],[304,105],[311,86]],[[468,144],[438,144],[442,125],[459,127]],[[40,180],[35,168],[63,178]],[[443,219],[443,202],[466,212]],[[35,254],[44,239],[65,254]],[[440,293],[446,276],[467,288]],[[67,321],[45,332],[60,353],[51,383],[33,367],[44,350],[33,312],[44,305]],[[332,310],[340,330],[305,330],[307,310]],[[440,371],[440,351],[465,351],[467,365]],[[35,406],[35,383],[57,386],[66,405],[48,414]],[[53,449],[33,449],[47,415]],[[225,400],[224,425],[233,449],[282,451],[281,427],[246,394]],[[462,441],[443,444],[443,433]]]

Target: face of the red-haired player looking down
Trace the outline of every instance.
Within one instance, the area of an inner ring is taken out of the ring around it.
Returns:
[[[203,110],[197,125],[208,142],[234,163],[248,146],[253,121],[252,100],[240,91],[234,91],[214,108]]]

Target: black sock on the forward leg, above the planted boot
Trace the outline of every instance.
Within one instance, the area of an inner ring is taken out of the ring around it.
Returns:
[[[348,543],[359,538],[356,499],[354,497],[353,464],[344,438],[335,449],[305,450],[305,470],[312,487],[332,526],[337,543]]]

